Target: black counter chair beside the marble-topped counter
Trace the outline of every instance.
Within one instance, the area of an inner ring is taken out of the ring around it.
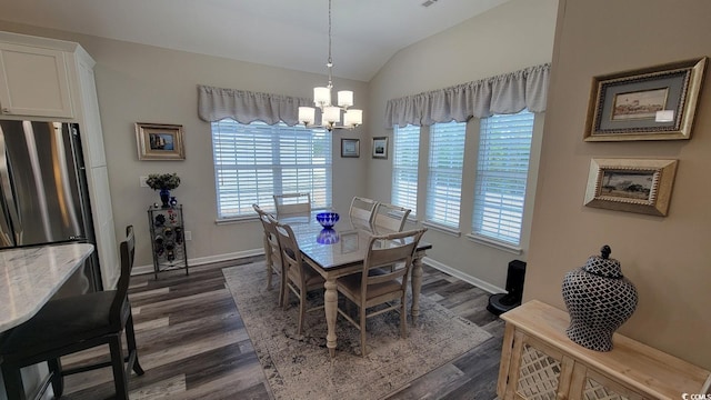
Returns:
[[[56,398],[62,396],[64,376],[109,366],[113,369],[116,398],[129,398],[128,379],[131,370],[139,376],[143,374],[138,362],[133,317],[128,298],[136,253],[132,226],[126,228],[126,239],[119,247],[121,274],[116,290],[50,300],[37,314],[11,330],[3,339],[0,359],[8,399],[27,398],[20,369],[44,361],[49,366]],[[128,346],[126,358],[121,344],[123,331]],[[62,369],[61,357],[102,344],[109,346],[110,361]],[[42,384],[40,392],[48,386],[49,382]]]

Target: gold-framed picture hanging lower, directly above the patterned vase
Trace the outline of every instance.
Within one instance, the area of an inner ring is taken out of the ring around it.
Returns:
[[[677,160],[592,159],[585,206],[667,216]]]

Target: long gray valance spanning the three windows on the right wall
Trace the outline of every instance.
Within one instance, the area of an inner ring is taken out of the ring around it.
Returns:
[[[545,111],[550,64],[529,67],[493,78],[389,100],[385,127],[465,122],[471,117]]]

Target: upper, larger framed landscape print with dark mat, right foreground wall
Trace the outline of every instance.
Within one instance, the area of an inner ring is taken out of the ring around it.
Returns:
[[[585,141],[690,139],[707,58],[593,78]]]

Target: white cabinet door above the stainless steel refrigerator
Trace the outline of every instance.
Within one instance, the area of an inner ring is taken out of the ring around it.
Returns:
[[[0,112],[74,117],[64,52],[0,42]]]

